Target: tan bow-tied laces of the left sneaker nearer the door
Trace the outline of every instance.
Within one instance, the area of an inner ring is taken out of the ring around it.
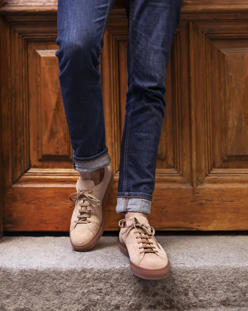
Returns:
[[[81,192],[72,193],[69,196],[69,199],[73,202],[77,200],[83,201],[82,203],[79,203],[79,206],[81,207],[81,209],[78,210],[79,215],[78,215],[78,220],[75,220],[76,224],[90,223],[90,221],[87,220],[87,218],[91,218],[90,214],[88,214],[91,212],[91,210],[88,210],[88,206],[97,207],[100,204],[100,201],[97,200],[97,198],[94,197],[91,193],[92,191],[81,191]],[[96,202],[96,205],[94,205],[94,202]],[[85,209],[83,210],[82,207],[85,207]]]

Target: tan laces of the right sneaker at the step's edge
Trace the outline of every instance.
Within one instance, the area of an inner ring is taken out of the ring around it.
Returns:
[[[132,221],[131,225],[122,225],[124,222],[127,222],[128,220]],[[121,228],[130,228],[130,230],[132,230],[133,228],[136,228],[137,231],[135,231],[134,233],[138,233],[139,236],[136,237],[136,239],[141,239],[139,243],[142,243],[142,246],[139,247],[139,249],[143,248],[143,251],[140,252],[141,253],[157,253],[158,251],[155,250],[156,246],[151,246],[153,245],[152,241],[149,241],[149,239],[153,240],[156,244],[157,247],[160,249],[157,240],[154,237],[155,234],[155,230],[153,227],[145,225],[145,224],[141,224],[136,217],[132,217],[132,218],[127,218],[127,219],[122,219],[119,221],[119,227]],[[149,230],[148,228],[150,228],[151,230]],[[144,235],[142,235],[144,234]],[[153,249],[155,248],[155,249]]]

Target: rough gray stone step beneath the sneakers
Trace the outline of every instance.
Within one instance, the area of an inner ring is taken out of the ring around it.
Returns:
[[[0,240],[1,311],[248,311],[248,236],[158,236],[166,280],[134,276],[117,237],[87,253],[67,237]]]

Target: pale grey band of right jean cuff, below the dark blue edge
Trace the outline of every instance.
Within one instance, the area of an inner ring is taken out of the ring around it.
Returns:
[[[150,214],[152,201],[140,198],[117,197],[116,212],[124,214],[127,211]]]

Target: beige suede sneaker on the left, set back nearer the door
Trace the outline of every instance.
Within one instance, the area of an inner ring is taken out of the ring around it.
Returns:
[[[70,240],[79,252],[90,250],[98,242],[104,230],[104,207],[111,191],[113,172],[104,167],[104,176],[98,185],[93,180],[78,180],[77,192],[70,195],[75,201],[70,226]]]

